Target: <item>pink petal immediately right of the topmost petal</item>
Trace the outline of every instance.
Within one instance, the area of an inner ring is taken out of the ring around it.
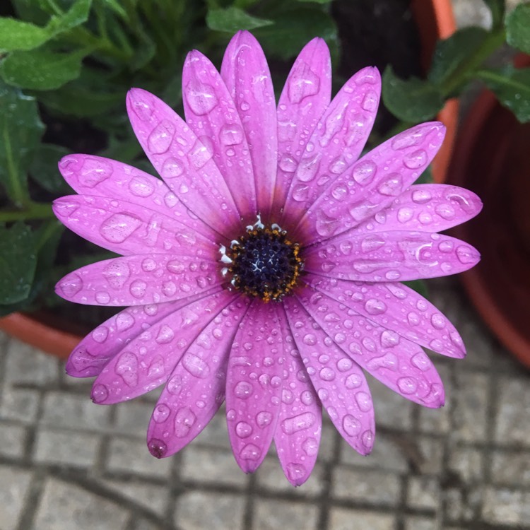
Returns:
[[[331,58],[319,37],[305,45],[278,102],[278,175],[275,211],[287,200],[290,183],[307,141],[331,99]]]

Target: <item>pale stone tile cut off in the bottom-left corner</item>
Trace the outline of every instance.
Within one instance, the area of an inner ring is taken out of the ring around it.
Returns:
[[[31,482],[30,471],[0,466],[0,528],[15,530]]]

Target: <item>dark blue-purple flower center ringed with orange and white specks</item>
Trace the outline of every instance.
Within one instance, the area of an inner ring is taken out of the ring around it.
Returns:
[[[278,225],[270,228],[258,222],[232,241],[230,249],[221,247],[221,261],[228,264],[223,273],[231,276],[233,288],[269,302],[281,300],[298,283],[303,269],[300,245],[290,241]]]

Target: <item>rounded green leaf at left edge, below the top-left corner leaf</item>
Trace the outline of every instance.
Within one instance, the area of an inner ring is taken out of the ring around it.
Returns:
[[[54,90],[79,77],[88,50],[56,53],[45,49],[13,52],[0,63],[6,83],[31,90]]]

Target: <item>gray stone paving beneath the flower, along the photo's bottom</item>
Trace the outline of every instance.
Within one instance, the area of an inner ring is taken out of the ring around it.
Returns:
[[[370,379],[374,451],[360,457],[327,421],[300,488],[273,449],[257,473],[242,473],[222,414],[180,454],[154,459],[145,431],[156,393],[95,405],[90,382],[0,335],[0,529],[530,530],[529,372],[458,283],[431,284],[469,351],[432,355],[446,406],[422,408]]]

